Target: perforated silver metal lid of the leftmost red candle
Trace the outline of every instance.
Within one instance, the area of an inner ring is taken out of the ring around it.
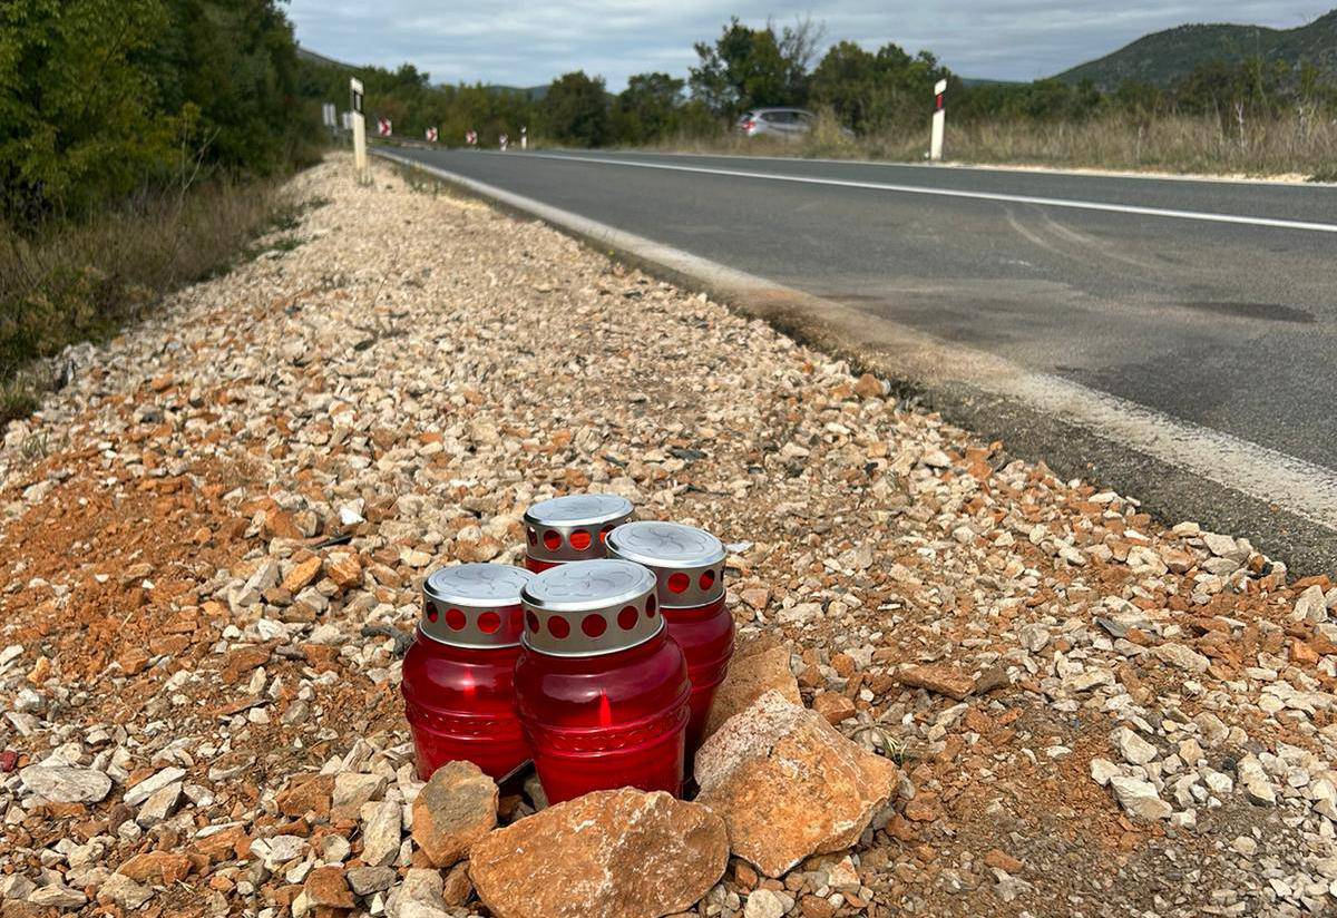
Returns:
[[[418,631],[452,647],[515,647],[524,631],[520,591],[532,576],[508,564],[435,571],[422,584]]]

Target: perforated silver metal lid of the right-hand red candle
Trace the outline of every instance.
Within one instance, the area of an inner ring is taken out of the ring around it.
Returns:
[[[725,595],[725,545],[705,529],[656,520],[626,522],[608,533],[608,557],[650,568],[666,609],[707,605]]]

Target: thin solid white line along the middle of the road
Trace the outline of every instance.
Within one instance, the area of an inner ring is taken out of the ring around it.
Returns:
[[[813,175],[782,175],[778,172],[751,172],[739,168],[707,168],[705,166],[678,166],[673,163],[639,163],[630,159],[606,159],[602,156],[567,156],[560,154],[525,154],[535,159],[555,159],[572,163],[598,163],[600,166],[626,166],[628,168],[655,168],[668,172],[697,172],[701,175],[723,175],[741,179],[761,179],[765,182],[794,182],[798,184],[825,184],[840,188],[868,188],[870,191],[890,191],[894,194],[935,195],[940,198],[969,198],[973,200],[1001,200],[1012,204],[1036,204],[1040,207],[1064,207],[1067,210],[1095,210],[1110,214],[1135,214],[1138,216],[1161,216],[1177,220],[1203,220],[1207,223],[1235,223],[1243,226],[1266,226],[1278,230],[1306,230],[1312,233],[1337,233],[1337,223],[1310,223],[1306,220],[1282,220],[1270,216],[1239,216],[1235,214],[1213,214],[1197,210],[1169,210],[1165,207],[1138,207],[1135,204],[1107,204],[1099,200],[1072,200],[1068,198],[1036,198],[1034,195],[1009,195],[997,191],[961,191],[957,188],[929,188],[917,184],[892,184],[888,182],[854,182],[850,179],[824,179]]]

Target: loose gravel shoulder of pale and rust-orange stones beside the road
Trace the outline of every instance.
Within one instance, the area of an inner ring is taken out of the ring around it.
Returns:
[[[805,700],[902,766],[848,861],[735,863],[691,914],[1337,907],[1328,577],[537,222],[350,172],[294,180],[326,202],[302,245],[78,349],[4,434],[4,918],[322,914],[373,838],[356,911],[410,914],[421,581],[521,560],[524,508],[582,489],[723,539],[743,639],[789,641]],[[455,878],[448,914],[483,914]]]

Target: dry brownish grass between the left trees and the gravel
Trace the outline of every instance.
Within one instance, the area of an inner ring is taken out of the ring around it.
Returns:
[[[291,228],[295,216],[281,182],[267,180],[155,195],[33,235],[0,224],[0,425],[60,385],[63,370],[47,358],[106,339],[172,290],[254,257],[257,237]]]

